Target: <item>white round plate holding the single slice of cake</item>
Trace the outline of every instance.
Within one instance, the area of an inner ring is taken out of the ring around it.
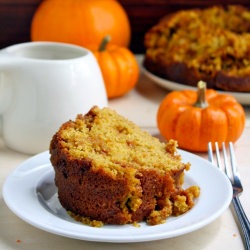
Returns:
[[[140,227],[105,225],[94,228],[73,220],[62,208],[54,185],[48,151],[20,164],[6,179],[3,197],[7,206],[27,223],[57,235],[98,242],[144,242],[176,237],[197,230],[220,216],[229,206],[232,187],[228,178],[205,159],[180,150],[184,162],[184,187],[198,185],[200,197],[187,213],[170,217],[165,224]]]

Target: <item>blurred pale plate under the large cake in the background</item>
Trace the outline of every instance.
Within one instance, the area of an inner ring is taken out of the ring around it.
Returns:
[[[169,89],[169,90],[184,90],[184,89],[191,89],[196,90],[196,87],[188,86],[181,83],[176,83],[169,81],[167,79],[161,78],[159,76],[154,75],[150,71],[148,71],[145,67],[142,66],[142,70],[149,79],[154,81],[159,86]],[[218,90],[221,94],[230,94],[235,97],[235,99],[241,103],[242,105],[250,105],[250,93],[249,92],[231,92],[231,91],[222,91]]]

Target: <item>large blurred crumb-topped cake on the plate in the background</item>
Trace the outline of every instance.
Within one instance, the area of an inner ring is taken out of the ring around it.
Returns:
[[[178,11],[145,35],[144,66],[182,84],[250,91],[250,11],[240,5]]]

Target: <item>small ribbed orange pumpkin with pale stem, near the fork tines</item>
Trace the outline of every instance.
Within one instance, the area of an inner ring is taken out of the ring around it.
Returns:
[[[228,94],[206,90],[173,91],[161,102],[157,113],[158,128],[167,140],[175,139],[180,148],[206,152],[208,142],[235,142],[243,132],[245,113]]]

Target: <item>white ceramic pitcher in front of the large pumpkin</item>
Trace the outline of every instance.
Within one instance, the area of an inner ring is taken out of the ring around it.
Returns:
[[[107,106],[101,71],[81,47],[28,42],[0,51],[0,119],[3,140],[19,152],[48,150],[60,125]]]

